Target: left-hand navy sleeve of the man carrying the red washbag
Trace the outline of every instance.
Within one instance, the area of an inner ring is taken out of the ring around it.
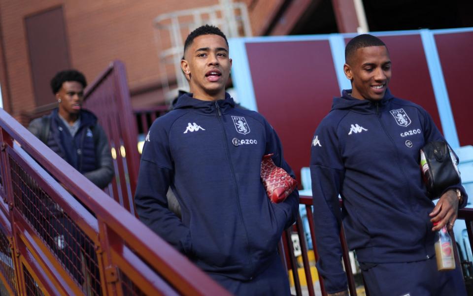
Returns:
[[[156,122],[155,122],[156,123]],[[190,231],[168,208],[173,164],[168,135],[153,124],[143,146],[135,193],[139,219],[181,253],[190,255]]]

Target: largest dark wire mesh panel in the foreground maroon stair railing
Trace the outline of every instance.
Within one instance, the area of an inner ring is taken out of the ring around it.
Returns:
[[[94,242],[10,157],[15,206],[86,295],[101,295]]]

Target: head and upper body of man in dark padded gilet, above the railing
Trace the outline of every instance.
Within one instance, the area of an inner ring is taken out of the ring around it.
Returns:
[[[34,119],[28,130],[92,183],[105,188],[113,177],[112,157],[97,117],[81,108],[86,86],[84,75],[76,70],[57,73],[51,88],[59,107]]]

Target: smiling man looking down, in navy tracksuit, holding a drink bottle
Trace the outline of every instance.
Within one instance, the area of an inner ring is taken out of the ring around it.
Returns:
[[[317,268],[329,295],[348,295],[338,239],[342,221],[370,295],[466,295],[460,266],[437,271],[434,235],[453,227],[467,195],[459,183],[434,207],[419,168],[420,148],[443,136],[422,107],[387,89],[391,60],[380,39],[353,38],[345,62],[352,89],[334,99],[318,126],[310,161]]]

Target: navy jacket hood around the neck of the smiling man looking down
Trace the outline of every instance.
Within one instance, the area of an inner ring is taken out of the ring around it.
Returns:
[[[369,100],[369,99],[355,99],[351,96],[351,89],[343,90],[341,97],[335,97],[332,103],[332,110],[335,109],[350,109],[359,113],[373,113],[376,103],[378,107],[384,107],[391,99],[393,95],[389,89],[386,89],[383,99],[380,100]]]

